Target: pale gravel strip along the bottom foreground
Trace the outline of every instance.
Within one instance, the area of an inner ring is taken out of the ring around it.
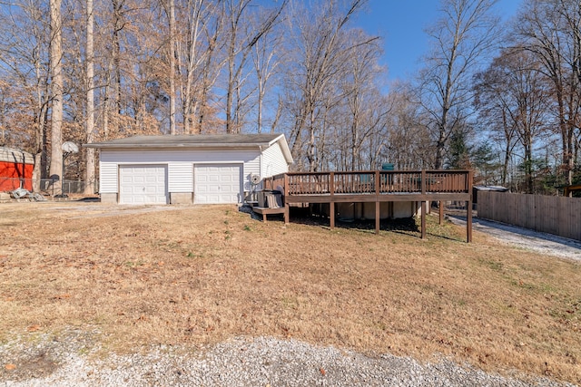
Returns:
[[[523,381],[441,361],[419,363],[384,354],[369,357],[270,337],[236,338],[212,348],[159,346],[126,356],[79,354],[86,337],[71,332],[58,340],[41,337],[33,348],[10,343],[24,353],[51,353],[34,377],[21,374],[4,386],[573,386],[547,379]],[[71,346],[74,346],[72,348]],[[0,357],[9,355],[0,347]],[[11,350],[11,351],[12,351]],[[82,351],[81,351],[82,352]],[[92,360],[89,360],[92,359]],[[95,360],[97,359],[97,360]],[[46,372],[45,368],[55,369]],[[34,367],[31,367],[34,369]]]

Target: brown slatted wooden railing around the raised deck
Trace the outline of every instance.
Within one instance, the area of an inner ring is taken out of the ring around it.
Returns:
[[[266,178],[263,189],[286,195],[393,193],[463,193],[470,189],[468,170],[362,170],[290,172]]]

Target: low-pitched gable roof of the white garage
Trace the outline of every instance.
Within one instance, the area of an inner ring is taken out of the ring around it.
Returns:
[[[203,149],[203,148],[268,148],[279,142],[287,163],[292,163],[291,150],[284,134],[182,134],[177,136],[133,136],[84,144],[85,148],[107,150],[129,149]]]

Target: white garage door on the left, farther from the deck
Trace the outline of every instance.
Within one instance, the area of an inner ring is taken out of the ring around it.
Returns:
[[[119,203],[167,204],[167,167],[123,165],[119,168]]]

